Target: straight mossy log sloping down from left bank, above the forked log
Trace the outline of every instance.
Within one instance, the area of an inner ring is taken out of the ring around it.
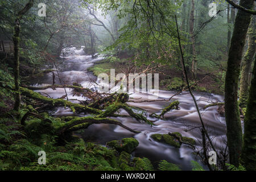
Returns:
[[[36,93],[30,89],[20,88],[20,92],[22,93],[23,96],[27,96],[27,97],[33,98],[34,100],[42,101],[47,104],[51,104],[52,106],[55,106],[55,107],[56,106],[69,107],[74,113],[75,112],[77,113],[88,112],[88,113],[94,113],[94,114],[102,113],[101,110],[94,109],[92,107],[75,104],[62,99],[53,99],[53,98],[44,97],[41,94]]]

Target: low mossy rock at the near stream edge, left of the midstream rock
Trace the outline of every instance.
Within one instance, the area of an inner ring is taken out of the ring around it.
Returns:
[[[113,140],[107,143],[107,146],[115,148],[115,150],[122,152],[126,151],[131,153],[139,145],[139,142],[135,138],[123,138],[122,140]]]

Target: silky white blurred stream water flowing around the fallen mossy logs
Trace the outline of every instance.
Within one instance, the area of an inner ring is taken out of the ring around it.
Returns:
[[[67,53],[67,54],[65,54]],[[87,72],[86,69],[92,67],[92,65],[101,60],[102,58],[92,59],[91,56],[84,55],[82,49],[69,48],[64,49],[64,57],[58,61],[60,68],[59,76],[61,81],[65,81],[66,84],[72,84],[73,82],[78,82],[86,88],[94,88],[92,80],[96,81],[97,78],[92,75],[92,73]],[[59,79],[56,78],[56,84],[60,84]],[[52,84],[52,73],[35,80],[33,86],[45,86]],[[65,95],[64,89],[47,89],[38,90],[44,96],[48,94],[52,98],[59,98]],[[67,89],[68,98],[84,100],[82,97],[72,96],[72,90]],[[158,99],[168,99],[173,96],[175,92],[170,91],[159,91]],[[147,100],[148,94],[135,93],[130,97],[138,98],[136,101]],[[209,102],[222,102],[224,100],[223,96],[218,96],[209,93],[195,93],[197,103],[201,109],[201,114],[203,121],[210,137],[214,137],[213,143],[216,148],[223,148],[226,134],[225,118],[217,111],[217,106],[209,107],[207,110],[202,110],[202,108],[209,104]],[[122,122],[123,125],[130,127],[131,129],[136,129],[141,131],[139,134],[131,133],[123,129],[122,127],[115,125],[91,125],[80,136],[88,142],[95,142],[105,146],[106,142],[110,140],[117,140],[127,137],[134,137],[139,141],[139,146],[132,153],[133,156],[147,157],[154,165],[156,165],[160,160],[167,160],[168,162],[177,164],[183,170],[191,169],[191,160],[196,160],[195,155],[191,147],[182,144],[180,148],[175,148],[168,146],[163,143],[155,142],[150,138],[152,134],[168,134],[169,132],[179,132],[184,137],[191,137],[196,140],[196,147],[201,148],[201,133],[199,129],[193,129],[194,127],[200,126],[200,119],[196,112],[196,107],[193,103],[192,97],[188,92],[183,92],[173,98],[173,100],[178,100],[180,102],[180,110],[173,110],[164,115],[165,119],[150,118],[148,115],[151,113],[160,114],[161,109],[166,107],[170,102],[166,101],[155,101],[155,102],[141,102],[134,103],[129,102],[131,106],[139,107],[147,111],[147,117],[151,121],[155,121],[155,126],[150,126],[147,123],[141,123],[136,121],[134,118],[116,118],[118,121]],[[75,101],[73,101],[75,102]],[[125,111],[121,111],[125,113]],[[64,109],[64,107],[59,107],[52,111],[51,114],[55,117],[74,115],[71,110]],[[85,115],[76,114],[81,117]],[[185,129],[193,129],[185,132]],[[197,160],[199,158],[197,157]]]

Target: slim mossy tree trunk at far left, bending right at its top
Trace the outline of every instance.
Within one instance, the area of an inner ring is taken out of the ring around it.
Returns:
[[[15,84],[15,103],[14,103],[14,110],[18,111],[20,109],[20,92],[19,92],[19,33],[20,33],[20,19],[22,16],[27,13],[28,10],[31,9],[33,6],[34,0],[30,0],[27,5],[19,11],[18,15],[15,19],[15,26],[14,26],[14,35],[13,35],[13,42],[14,42],[14,84]]]

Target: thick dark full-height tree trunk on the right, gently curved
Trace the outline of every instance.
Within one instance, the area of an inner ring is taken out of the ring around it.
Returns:
[[[251,9],[253,0],[241,0],[240,5]],[[228,68],[225,78],[225,117],[229,147],[229,162],[239,166],[242,151],[242,127],[238,107],[238,78],[242,61],[243,47],[251,15],[238,10],[234,24],[234,32],[230,43]]]

